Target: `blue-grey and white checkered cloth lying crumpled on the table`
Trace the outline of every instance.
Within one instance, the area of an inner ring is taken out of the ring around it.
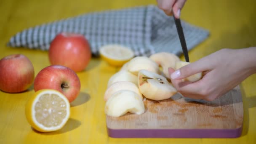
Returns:
[[[190,50],[208,37],[205,29],[181,21],[187,48]],[[11,37],[8,45],[48,50],[60,32],[83,34],[91,45],[94,56],[107,44],[131,48],[136,56],[156,52],[182,53],[173,17],[166,16],[155,5],[122,10],[87,13],[25,29]]]

